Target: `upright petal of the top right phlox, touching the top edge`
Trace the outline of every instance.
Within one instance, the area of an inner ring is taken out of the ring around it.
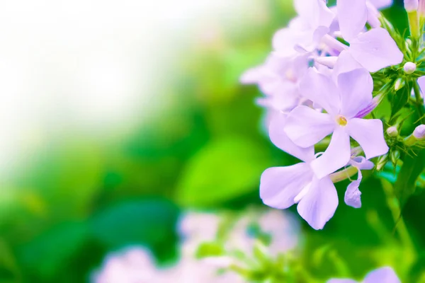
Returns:
[[[336,9],[342,36],[349,42],[363,31],[368,21],[366,0],[338,0]]]

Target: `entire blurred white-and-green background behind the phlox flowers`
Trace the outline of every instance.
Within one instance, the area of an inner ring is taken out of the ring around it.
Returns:
[[[401,2],[384,13],[404,30]],[[262,171],[295,159],[239,76],[292,16],[290,0],[1,1],[0,282],[88,282],[133,244],[172,262],[182,212],[263,207]],[[341,202],[323,231],[301,221],[319,278],[339,260],[361,277],[408,256],[380,182],[361,190],[363,208]],[[424,202],[404,209],[412,278]]]

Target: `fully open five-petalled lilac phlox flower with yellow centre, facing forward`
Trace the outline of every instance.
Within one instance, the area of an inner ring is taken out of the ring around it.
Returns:
[[[332,134],[319,158],[311,161],[317,178],[346,166],[351,157],[350,137],[362,147],[366,158],[386,154],[382,122],[364,120],[356,114],[373,100],[373,80],[365,69],[334,74],[336,79],[310,68],[300,82],[300,92],[326,112],[298,106],[288,115],[283,131],[297,146],[309,148]]]

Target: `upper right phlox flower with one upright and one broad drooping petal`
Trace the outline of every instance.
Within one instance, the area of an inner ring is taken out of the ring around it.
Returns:
[[[384,28],[365,31],[365,23],[370,18],[368,1],[336,1],[339,28],[344,40],[350,43],[348,52],[368,71],[399,64],[403,54],[390,34]]]

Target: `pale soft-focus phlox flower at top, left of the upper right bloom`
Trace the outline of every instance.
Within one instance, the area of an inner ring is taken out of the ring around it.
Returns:
[[[298,16],[288,28],[280,29],[273,36],[273,49],[280,57],[293,57],[298,52],[312,52],[329,32],[334,13],[323,0],[296,0]]]

